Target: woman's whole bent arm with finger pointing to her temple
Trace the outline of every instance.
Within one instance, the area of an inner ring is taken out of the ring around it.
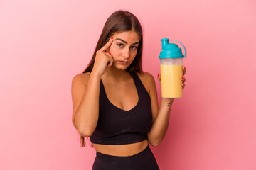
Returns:
[[[97,50],[92,72],[87,77],[78,74],[72,81],[73,125],[81,136],[90,137],[95,131],[99,118],[100,79],[113,57],[105,52],[113,42],[113,37]]]

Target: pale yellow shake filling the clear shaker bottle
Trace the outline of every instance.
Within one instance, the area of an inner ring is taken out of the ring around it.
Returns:
[[[182,97],[182,67],[182,65],[160,65],[162,98]]]

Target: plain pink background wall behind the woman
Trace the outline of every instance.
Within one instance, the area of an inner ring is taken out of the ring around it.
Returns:
[[[255,170],[256,1],[0,1],[0,169],[91,169],[72,125],[71,81],[108,16],[144,28],[144,71],[159,73],[161,38],[183,42],[186,87],[151,149],[161,169]],[[161,89],[156,79],[159,102]]]

